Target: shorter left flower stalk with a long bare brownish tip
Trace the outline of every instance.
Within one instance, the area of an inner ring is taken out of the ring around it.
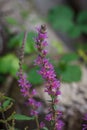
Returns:
[[[34,96],[37,94],[37,92],[35,89],[32,89],[32,85],[27,80],[27,76],[25,73],[23,73],[23,69],[22,69],[26,37],[27,37],[27,32],[24,33],[23,43],[20,48],[19,72],[17,74],[18,83],[22,95],[27,99],[27,105],[29,105],[31,108],[30,115],[35,116],[37,129],[40,130],[39,121],[38,121],[38,108],[41,106],[41,103],[34,99]]]

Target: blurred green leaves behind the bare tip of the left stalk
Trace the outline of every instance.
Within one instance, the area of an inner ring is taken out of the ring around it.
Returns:
[[[35,51],[33,38],[36,36],[35,33],[29,32],[26,39],[25,53],[32,53]],[[9,41],[8,47],[14,48],[16,46],[21,46],[23,41],[24,33],[20,33],[12,37]]]

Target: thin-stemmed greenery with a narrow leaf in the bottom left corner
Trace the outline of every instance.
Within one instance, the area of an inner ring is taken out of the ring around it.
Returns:
[[[8,112],[8,110],[12,108],[13,106],[13,99],[10,97],[4,96],[3,93],[0,93],[0,103],[1,103],[0,113],[2,114],[2,119],[0,119],[0,123],[5,124],[8,130],[15,129],[15,120],[21,121],[21,120],[34,120],[35,119],[35,116],[29,117],[26,115],[16,114],[15,112],[10,113],[8,117],[5,116],[4,113]]]

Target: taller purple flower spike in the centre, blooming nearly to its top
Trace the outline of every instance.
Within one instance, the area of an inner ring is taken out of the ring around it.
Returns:
[[[38,36],[35,42],[39,54],[35,60],[35,65],[40,67],[38,73],[45,80],[45,92],[51,97],[49,113],[45,119],[50,121],[52,130],[61,130],[64,124],[60,120],[61,112],[57,110],[58,96],[61,94],[60,81],[56,78],[54,67],[46,58],[47,50],[44,49],[48,45],[46,25],[41,25],[40,28],[37,28],[37,31]]]

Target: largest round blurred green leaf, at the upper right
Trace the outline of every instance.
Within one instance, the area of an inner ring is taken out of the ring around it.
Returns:
[[[67,32],[73,26],[74,13],[67,6],[54,7],[48,14],[48,20],[55,29]]]

